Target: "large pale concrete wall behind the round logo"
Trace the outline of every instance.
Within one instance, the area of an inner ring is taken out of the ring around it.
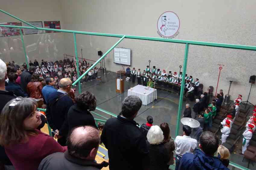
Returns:
[[[227,44],[255,45],[255,1],[62,1],[65,29],[103,32],[123,35],[159,37],[157,20],[165,11],[175,12],[180,19],[179,35],[175,39],[208,41]],[[97,51],[106,52],[118,38],[78,35],[78,48],[84,57],[98,59]],[[66,53],[71,53],[71,41],[65,41]],[[69,47],[71,47],[69,49]],[[179,71],[183,65],[185,45],[125,39],[119,47],[131,48],[131,67],[145,69],[150,59],[151,65],[166,71]],[[254,75],[256,52],[224,48],[190,46],[187,72],[199,78],[204,90],[216,88],[219,65],[223,64],[219,88],[227,93],[229,81],[234,77],[239,81],[231,86],[234,99],[238,94],[247,99],[249,76]],[[106,57],[106,68],[117,71],[120,65],[113,63],[113,52]],[[214,90],[215,92],[215,90]],[[255,87],[251,91],[251,102],[255,103]]]

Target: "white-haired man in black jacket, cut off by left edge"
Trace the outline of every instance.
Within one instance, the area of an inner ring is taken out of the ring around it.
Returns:
[[[7,79],[7,68],[5,62],[0,59],[0,114],[6,103],[15,98],[13,92],[5,91],[5,79]],[[0,146],[0,164],[3,164],[6,169],[14,169],[14,166],[5,153],[5,148],[2,146]]]

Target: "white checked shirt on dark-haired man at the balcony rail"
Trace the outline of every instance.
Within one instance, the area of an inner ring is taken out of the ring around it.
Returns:
[[[185,153],[193,153],[197,147],[197,140],[190,136],[176,136],[175,138],[175,153],[179,156],[183,156]]]

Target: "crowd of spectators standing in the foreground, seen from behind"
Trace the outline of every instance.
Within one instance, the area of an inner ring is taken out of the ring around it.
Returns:
[[[41,78],[36,71],[39,63],[30,63],[20,73],[20,68],[0,60],[0,161],[5,169],[101,169],[108,165],[110,170],[168,169],[174,164],[174,151],[176,169],[227,169],[229,155],[225,148],[218,149],[219,140],[212,132],[205,130],[194,139],[191,127],[184,125],[183,135],[173,140],[168,123],[153,125],[151,116],[139,127],[134,118],[142,101],[137,96],[126,97],[117,118],[108,119],[100,126],[102,131],[96,129],[90,113],[96,108],[96,97],[90,92],[74,97],[71,78],[64,76],[58,82],[55,76]],[[42,61],[41,65],[47,64]],[[16,85],[19,76],[20,87]],[[211,104],[216,103],[216,110],[218,100],[221,96]],[[201,96],[198,110],[193,111],[198,114],[201,105],[208,107],[206,102],[207,96]],[[44,104],[46,115],[37,111]],[[192,117],[190,105],[184,117]],[[198,117],[204,118],[201,128],[210,126],[205,117]],[[40,131],[46,119],[57,141]],[[108,149],[109,163],[95,162],[100,143]]]

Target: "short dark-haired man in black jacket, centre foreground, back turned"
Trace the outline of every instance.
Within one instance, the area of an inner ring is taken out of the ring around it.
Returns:
[[[128,96],[122,102],[120,115],[105,123],[101,141],[108,149],[110,170],[148,168],[150,161],[146,140],[134,121],[141,105],[139,97]]]

